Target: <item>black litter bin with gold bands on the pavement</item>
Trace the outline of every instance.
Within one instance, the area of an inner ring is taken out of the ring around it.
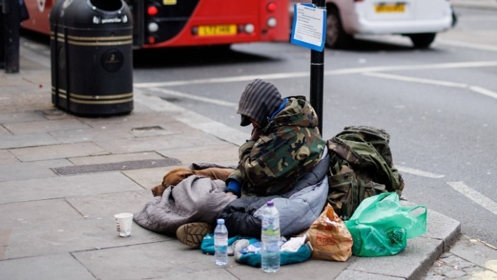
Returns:
[[[59,0],[50,12],[52,103],[75,115],[133,111],[133,19],[123,0]]]

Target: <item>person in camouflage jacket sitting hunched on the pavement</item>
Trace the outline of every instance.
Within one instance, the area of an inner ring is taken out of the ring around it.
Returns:
[[[246,85],[237,113],[241,125],[252,124],[253,131],[223,187],[228,201],[220,210],[209,209],[211,213],[203,207],[197,221],[185,220],[175,232],[179,241],[193,248],[213,231],[216,218],[224,218],[230,236],[260,239],[260,213],[269,200],[280,212],[282,236],[307,230],[326,203],[329,156],[318,117],[305,97],[282,98],[273,84],[256,79]],[[175,200],[178,203],[182,202]]]

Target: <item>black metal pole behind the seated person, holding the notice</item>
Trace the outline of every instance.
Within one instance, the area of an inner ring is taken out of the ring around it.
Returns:
[[[313,0],[313,4],[318,8],[325,8],[324,0]],[[326,34],[323,34],[326,36]],[[311,50],[311,105],[318,115],[318,128],[322,133],[322,104],[323,104],[323,84],[324,84],[324,49],[322,52]]]

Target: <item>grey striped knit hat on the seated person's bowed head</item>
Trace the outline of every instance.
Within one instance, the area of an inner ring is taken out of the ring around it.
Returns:
[[[260,79],[255,79],[245,86],[240,97],[237,113],[242,115],[240,125],[246,127],[253,118],[257,124],[264,127],[267,118],[280,108],[283,100],[276,86]]]

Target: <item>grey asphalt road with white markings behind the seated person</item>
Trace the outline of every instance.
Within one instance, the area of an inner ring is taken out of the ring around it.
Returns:
[[[428,50],[405,37],[362,37],[325,50],[323,137],[349,124],[386,129],[414,203],[456,218],[497,245],[497,11],[458,9]],[[240,129],[237,102],[255,77],[309,97],[310,50],[241,44],[231,50],[135,53],[135,86]]]

